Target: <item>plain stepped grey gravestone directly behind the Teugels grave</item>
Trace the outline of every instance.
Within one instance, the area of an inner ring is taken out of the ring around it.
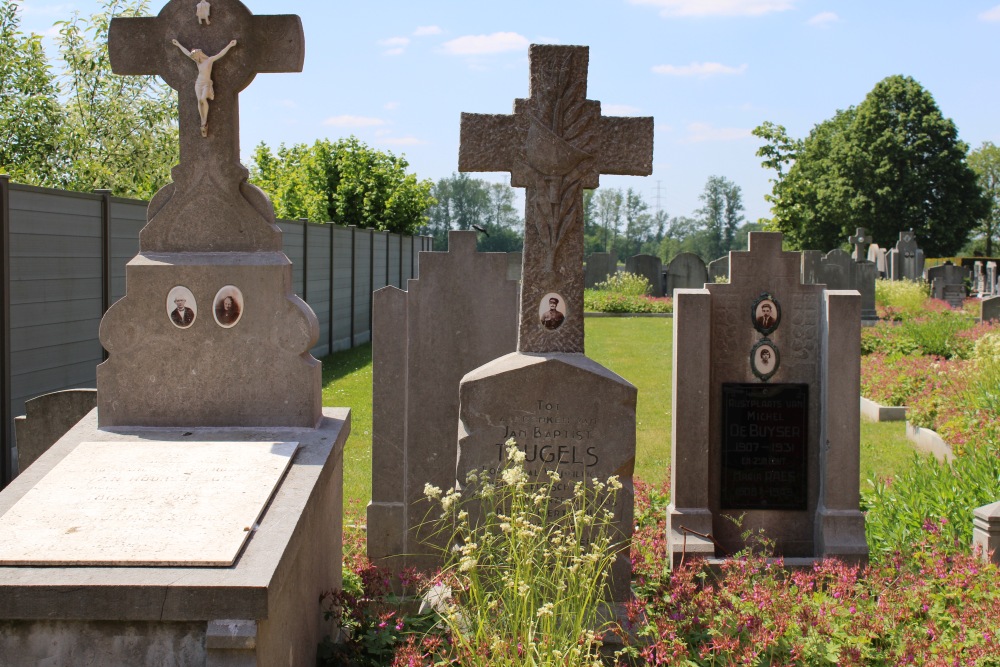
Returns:
[[[462,376],[517,348],[508,276],[507,253],[476,252],[476,232],[452,231],[447,252],[420,254],[407,291],[375,292],[368,557],[392,572],[440,565],[421,530],[424,485],[455,483]]]

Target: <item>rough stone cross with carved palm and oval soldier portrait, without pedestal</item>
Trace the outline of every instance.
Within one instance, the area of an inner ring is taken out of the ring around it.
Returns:
[[[583,352],[583,190],[653,171],[653,119],[586,99],[589,50],[533,44],[513,115],[462,114],[459,171],[509,171],[525,188],[519,352]]]

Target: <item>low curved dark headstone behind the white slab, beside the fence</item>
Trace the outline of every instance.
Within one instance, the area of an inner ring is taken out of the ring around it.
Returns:
[[[14,419],[18,471],[27,469],[96,407],[96,389],[55,391],[25,401],[25,414]]]

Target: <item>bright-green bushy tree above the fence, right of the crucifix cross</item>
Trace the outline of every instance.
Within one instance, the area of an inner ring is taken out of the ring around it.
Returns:
[[[279,218],[415,233],[427,222],[431,182],[406,173],[402,157],[366,146],[356,137],[312,146],[264,143],[254,149],[251,180],[271,194]]]

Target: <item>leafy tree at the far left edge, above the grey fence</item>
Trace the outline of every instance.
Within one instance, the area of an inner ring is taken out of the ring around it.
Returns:
[[[0,171],[55,185],[63,111],[40,35],[20,31],[13,0],[0,0]]]

